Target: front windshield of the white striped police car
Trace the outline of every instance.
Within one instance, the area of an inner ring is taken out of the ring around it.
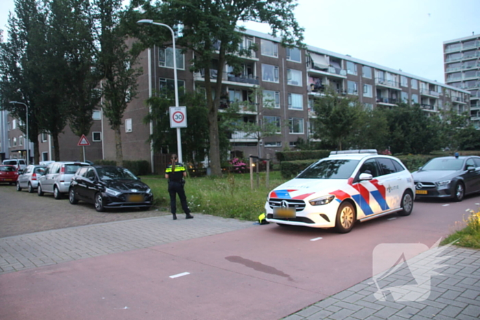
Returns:
[[[312,164],[298,175],[302,179],[348,179],[359,160],[326,159]]]

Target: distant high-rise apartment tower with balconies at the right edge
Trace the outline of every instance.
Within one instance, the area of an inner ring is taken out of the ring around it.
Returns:
[[[445,83],[470,92],[470,120],[480,129],[480,35],[444,41]]]

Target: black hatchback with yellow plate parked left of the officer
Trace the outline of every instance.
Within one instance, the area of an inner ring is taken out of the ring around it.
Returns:
[[[138,207],[147,210],[154,196],[147,184],[133,173],[115,166],[86,166],[77,170],[69,188],[69,201],[95,204],[97,211],[106,208]]]

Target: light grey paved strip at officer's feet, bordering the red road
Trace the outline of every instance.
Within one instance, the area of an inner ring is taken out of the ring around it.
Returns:
[[[253,227],[251,221],[195,214],[69,227],[0,238],[0,275]],[[193,227],[192,227],[193,226]]]

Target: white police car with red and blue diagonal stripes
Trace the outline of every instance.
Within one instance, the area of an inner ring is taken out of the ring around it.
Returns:
[[[266,220],[346,233],[356,221],[394,212],[408,216],[414,190],[411,173],[397,158],[374,149],[332,151],[270,191]]]

